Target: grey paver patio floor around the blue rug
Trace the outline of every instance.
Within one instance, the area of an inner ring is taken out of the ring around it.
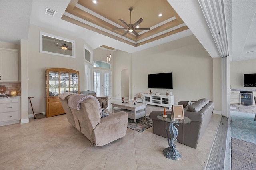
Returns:
[[[230,105],[239,111],[255,114],[255,106]],[[256,133],[256,132],[255,132]],[[256,170],[256,144],[232,138],[231,140],[231,169],[232,170]]]

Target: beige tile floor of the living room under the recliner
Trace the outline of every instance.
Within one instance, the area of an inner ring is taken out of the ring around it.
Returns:
[[[154,110],[163,107],[148,105],[147,115]],[[200,170],[220,119],[221,115],[212,115],[197,149],[176,143],[182,159],[174,161],[162,154],[167,140],[153,134],[152,127],[141,133],[127,128],[123,138],[96,147],[68,123],[66,115],[31,118],[26,124],[0,127],[0,169]]]

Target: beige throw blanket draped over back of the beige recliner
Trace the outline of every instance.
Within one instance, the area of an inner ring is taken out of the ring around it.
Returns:
[[[81,102],[88,98],[92,98],[98,103],[98,106],[100,109],[100,115],[102,115],[102,109],[100,107],[100,102],[98,101],[98,99],[96,97],[94,97],[92,95],[74,95],[74,96],[70,97],[70,99],[68,100],[68,106],[72,107],[73,109],[80,110]]]

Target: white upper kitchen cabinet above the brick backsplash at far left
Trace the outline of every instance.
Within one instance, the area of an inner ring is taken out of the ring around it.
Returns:
[[[16,49],[0,48],[0,82],[18,82],[18,61],[20,52]]]

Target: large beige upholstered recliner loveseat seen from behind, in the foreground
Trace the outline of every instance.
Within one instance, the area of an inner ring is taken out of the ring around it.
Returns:
[[[77,95],[80,94],[71,94],[64,99],[60,95],[60,103],[65,112],[68,113],[66,114],[68,121],[72,125],[75,122],[74,127],[84,134],[95,146],[106,145],[126,135],[128,123],[128,114],[126,112],[112,113],[107,111],[109,115],[101,117],[99,103],[94,97],[83,100],[80,103],[79,110],[69,107],[70,103],[76,103],[77,99],[75,98]]]

